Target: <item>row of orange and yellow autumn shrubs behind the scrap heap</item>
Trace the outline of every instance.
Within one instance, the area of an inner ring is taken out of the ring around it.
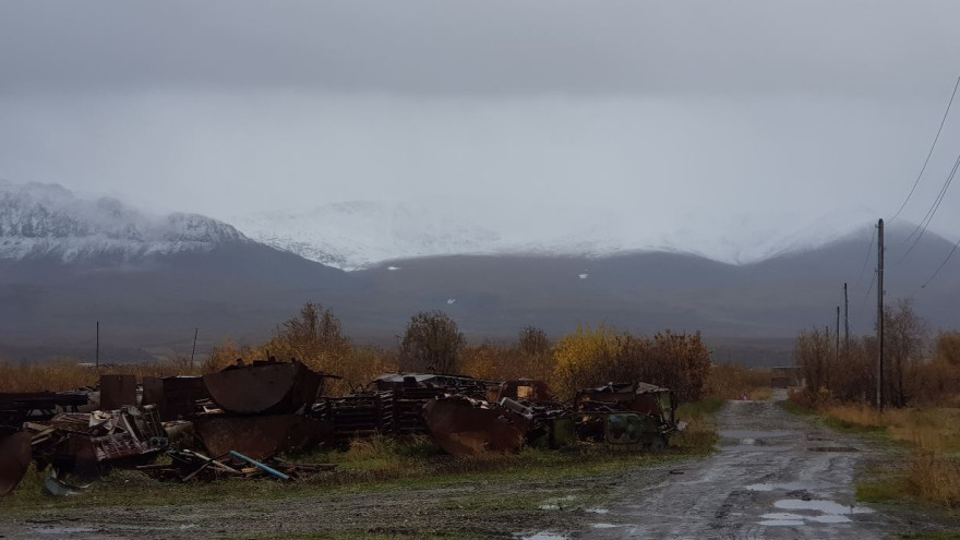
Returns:
[[[400,370],[457,373],[489,381],[535,379],[548,381],[560,399],[577,389],[609,382],[644,381],[672,388],[684,403],[706,397],[739,398],[761,393],[769,383],[766,371],[741,364],[711,368],[710,351],[696,334],[669,329],[652,337],[601,324],[578,326],[551,343],[540,328],[519,329],[508,343],[467,345],[456,322],[439,311],[410,317],[398,347],[357,344],[344,334],[339,319],[320,303],[307,303],[279,324],[262,344],[241,344],[230,337],[211,350],[199,365],[189,358],[163,362],[119,364],[111,373],[137,376],[203,374],[219,371],[238,359],[279,360],[296,358],[315,371],[339,375],[325,392],[345,395],[360,389],[375,376]],[[101,369],[103,371],[103,369]],[[0,360],[0,392],[65,391],[96,384],[99,372],[75,360],[11,363]]]

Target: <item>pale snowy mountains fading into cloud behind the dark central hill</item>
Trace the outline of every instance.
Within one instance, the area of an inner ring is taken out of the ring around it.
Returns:
[[[350,202],[312,211],[231,217],[250,238],[346,271],[403,259],[452,254],[610,256],[634,252],[692,253],[749,264],[862,236],[876,213],[865,207],[823,216],[769,213],[693,214],[657,227],[643,216],[577,215],[549,229],[495,223],[403,203]],[[868,232],[867,232],[868,235]]]

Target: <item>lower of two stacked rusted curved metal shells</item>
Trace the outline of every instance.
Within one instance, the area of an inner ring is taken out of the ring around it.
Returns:
[[[199,417],[194,428],[213,456],[237,451],[254,459],[283,452],[310,449],[329,440],[334,424],[299,415]]]

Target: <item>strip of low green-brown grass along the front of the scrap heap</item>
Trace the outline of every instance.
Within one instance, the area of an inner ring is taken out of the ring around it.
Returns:
[[[679,437],[680,439],[680,437]],[[578,444],[563,451],[526,448],[517,455],[455,458],[446,455],[393,458],[371,455],[334,456],[341,470],[317,473],[295,483],[274,480],[216,480],[205,483],[159,482],[134,470],[116,470],[81,495],[55,497],[43,491],[44,475],[32,471],[4,497],[0,515],[51,508],[93,506],[183,506],[203,502],[255,501],[324,496],[332,493],[425,490],[485,482],[559,481],[688,459],[704,452],[673,447],[662,452],[616,452],[600,444]],[[349,454],[349,451],[340,454]],[[319,455],[303,456],[307,458]],[[149,493],[149,496],[143,496]],[[469,505],[495,504],[482,501]]]

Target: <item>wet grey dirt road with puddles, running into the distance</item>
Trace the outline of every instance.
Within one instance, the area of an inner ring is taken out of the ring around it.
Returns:
[[[857,441],[771,401],[730,401],[718,420],[717,455],[652,485],[627,478],[612,497],[620,502],[597,516],[603,523],[573,536],[872,539],[892,532],[889,517],[854,503],[853,473],[867,452]]]

